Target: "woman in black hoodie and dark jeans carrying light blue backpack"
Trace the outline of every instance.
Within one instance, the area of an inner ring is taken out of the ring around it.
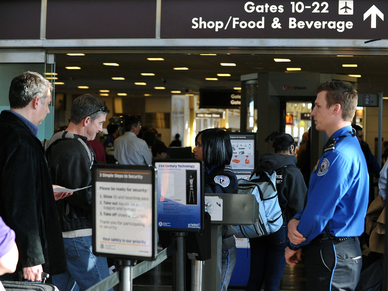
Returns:
[[[265,282],[265,291],[278,291],[286,260],[287,223],[297,212],[303,210],[307,187],[303,175],[296,168],[295,142],[288,133],[272,132],[266,139],[274,152],[260,155],[260,165],[253,173],[276,171],[276,189],[282,210],[283,225],[273,234],[249,239],[251,270],[246,291],[259,291]]]

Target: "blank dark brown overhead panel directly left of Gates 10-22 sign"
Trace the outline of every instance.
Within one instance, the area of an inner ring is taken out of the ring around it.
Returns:
[[[47,1],[47,39],[155,38],[155,26],[156,0]]]

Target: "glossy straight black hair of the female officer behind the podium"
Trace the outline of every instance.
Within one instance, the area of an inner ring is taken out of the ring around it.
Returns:
[[[220,128],[208,128],[198,132],[195,137],[196,145],[200,134],[202,134],[202,158],[206,168],[230,165],[233,149],[229,134]]]

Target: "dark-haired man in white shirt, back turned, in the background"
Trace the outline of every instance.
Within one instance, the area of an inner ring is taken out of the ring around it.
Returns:
[[[114,140],[114,158],[121,165],[151,165],[151,152],[145,140],[139,139],[140,120],[128,116],[124,120],[125,133]]]

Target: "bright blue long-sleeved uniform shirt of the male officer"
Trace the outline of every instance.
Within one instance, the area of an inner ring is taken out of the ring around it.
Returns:
[[[364,232],[368,193],[364,154],[352,127],[345,126],[334,132],[326,144],[310,177],[306,207],[293,217],[300,220],[297,229],[306,237],[298,246],[326,233],[326,225],[332,236],[360,236]]]

